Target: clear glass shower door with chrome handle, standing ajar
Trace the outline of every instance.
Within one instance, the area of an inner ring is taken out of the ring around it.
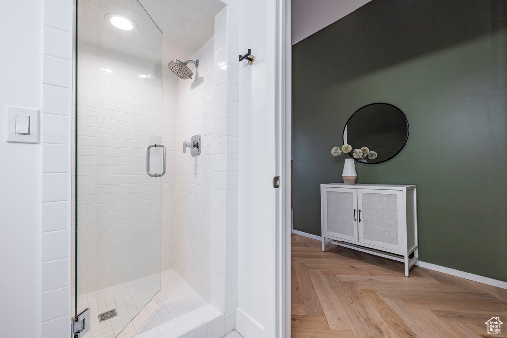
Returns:
[[[163,37],[136,0],[76,9],[73,310],[108,338],[161,286]]]

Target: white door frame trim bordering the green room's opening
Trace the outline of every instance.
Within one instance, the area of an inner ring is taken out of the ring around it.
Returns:
[[[275,22],[275,336],[291,336],[291,0],[276,1]]]

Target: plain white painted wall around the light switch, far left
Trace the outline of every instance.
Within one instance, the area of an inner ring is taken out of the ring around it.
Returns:
[[[42,2],[0,11],[0,335],[38,336],[41,144],[8,143],[7,106],[41,109]]]

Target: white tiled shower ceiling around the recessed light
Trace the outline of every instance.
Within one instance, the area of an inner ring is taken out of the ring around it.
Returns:
[[[85,40],[82,42],[100,46],[103,50],[128,54],[129,58],[146,59],[147,55],[160,52],[160,35],[154,32],[157,28],[152,24],[153,19],[164,33],[164,45],[169,47],[164,52],[171,54],[171,58],[188,59],[211,39],[214,34],[214,17],[225,7],[218,0],[139,0],[150,15],[148,16],[132,10],[135,6],[128,5],[136,2],[137,0],[123,1],[122,6],[110,1],[81,0],[84,20],[81,24],[91,32],[81,38]],[[120,30],[114,27],[105,19],[111,13],[136,18],[134,23],[137,29]],[[136,40],[142,43],[143,49],[132,49],[132,42]]]

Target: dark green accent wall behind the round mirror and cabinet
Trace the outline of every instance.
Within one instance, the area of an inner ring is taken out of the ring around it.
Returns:
[[[505,0],[374,0],[293,46],[294,229],[320,235],[320,183],[342,182],[342,130],[385,102],[408,118],[358,183],[418,186],[421,261],[507,281]],[[374,144],[360,144],[352,147]]]

